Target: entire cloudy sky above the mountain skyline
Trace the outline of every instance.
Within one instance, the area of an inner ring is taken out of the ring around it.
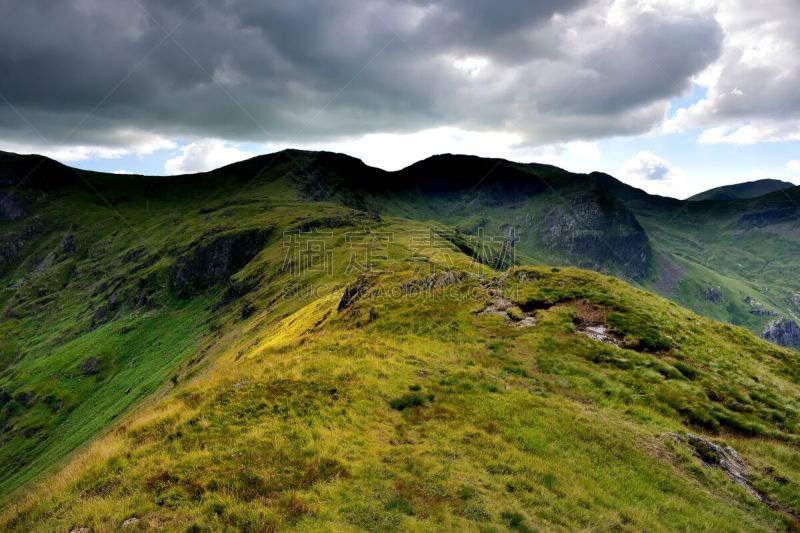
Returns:
[[[800,184],[795,0],[0,0],[0,150],[120,173],[283,148]]]

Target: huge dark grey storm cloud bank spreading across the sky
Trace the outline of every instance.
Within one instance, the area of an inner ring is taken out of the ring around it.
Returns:
[[[588,0],[0,0],[0,140],[297,139],[455,125],[648,130],[719,54],[713,18]],[[173,32],[167,36],[167,32]],[[20,117],[22,115],[22,117]],[[88,118],[87,118],[88,116]],[[80,124],[77,131],[75,126]]]

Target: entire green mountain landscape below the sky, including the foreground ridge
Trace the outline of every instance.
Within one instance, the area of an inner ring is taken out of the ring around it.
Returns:
[[[0,189],[2,530],[796,527],[796,352],[513,264],[758,332],[800,311],[797,189],[296,151]]]

